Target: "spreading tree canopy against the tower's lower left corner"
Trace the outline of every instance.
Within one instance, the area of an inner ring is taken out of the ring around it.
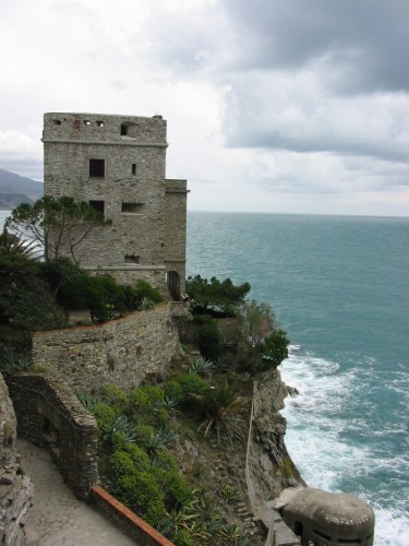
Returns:
[[[4,226],[23,240],[44,249],[47,261],[59,258],[64,250],[79,263],[76,247],[93,229],[110,224],[110,219],[88,203],[64,195],[45,195],[34,204],[16,206]]]

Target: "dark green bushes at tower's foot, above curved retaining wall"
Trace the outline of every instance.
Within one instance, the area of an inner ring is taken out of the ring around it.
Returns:
[[[67,328],[70,311],[87,309],[104,322],[163,301],[145,281],[123,286],[68,258],[40,261],[37,250],[7,229],[0,235],[0,357],[2,346],[29,349],[29,332]]]

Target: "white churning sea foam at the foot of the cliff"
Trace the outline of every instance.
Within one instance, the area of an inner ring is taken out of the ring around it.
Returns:
[[[330,491],[348,490],[371,503],[376,517],[376,546],[408,546],[408,498],[402,485],[409,474],[409,460],[406,454],[383,452],[380,443],[397,434],[407,441],[406,427],[400,424],[390,429],[385,425],[370,430],[368,416],[372,413],[372,402],[369,396],[361,402],[363,415],[348,414],[353,400],[362,399],[362,389],[369,391],[370,384],[364,381],[372,377],[373,364],[366,359],[362,369],[351,367],[341,371],[338,363],[291,346],[290,356],[281,366],[281,377],[300,395],[288,397],[282,411],[288,420],[286,444],[310,486]],[[389,384],[400,389],[401,379],[396,378],[397,382]],[[351,440],[353,435],[356,441]],[[360,441],[359,435],[372,437],[373,444]],[[385,477],[375,482],[374,476]],[[396,498],[390,498],[390,490],[397,491]]]

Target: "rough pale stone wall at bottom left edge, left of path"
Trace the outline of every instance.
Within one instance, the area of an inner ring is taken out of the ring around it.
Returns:
[[[0,373],[0,544],[25,544],[23,518],[33,497],[15,451],[16,419],[8,388]]]

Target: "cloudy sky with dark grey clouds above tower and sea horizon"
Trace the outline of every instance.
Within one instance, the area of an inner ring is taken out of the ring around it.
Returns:
[[[168,120],[190,210],[409,216],[407,0],[1,0],[0,167],[43,114]]]

